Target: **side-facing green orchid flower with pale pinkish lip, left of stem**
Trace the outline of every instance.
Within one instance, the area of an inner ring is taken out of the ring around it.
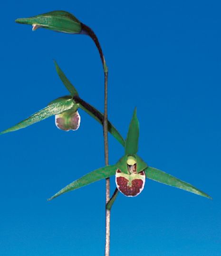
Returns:
[[[43,108],[31,115],[29,118],[19,122],[15,126],[3,130],[0,135],[12,131],[19,130],[21,128],[26,128],[34,123],[42,121],[51,116],[55,116],[56,126],[64,131],[77,130],[80,126],[80,115],[77,111],[78,108],[83,109],[92,118],[96,119],[100,124],[103,124],[104,116],[96,108],[91,106],[89,103],[84,101],[79,97],[77,90],[67,79],[63,71],[59,68],[57,62],[55,61],[56,71],[61,81],[69,91],[70,95],[57,98],[50,102],[46,108]],[[108,131],[123,145],[125,146],[125,141],[117,131],[117,129],[108,121]]]

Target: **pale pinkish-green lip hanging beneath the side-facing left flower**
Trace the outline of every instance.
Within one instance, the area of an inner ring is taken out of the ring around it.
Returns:
[[[69,109],[55,116],[56,126],[64,131],[77,130],[80,126],[80,120],[80,115],[75,109]]]

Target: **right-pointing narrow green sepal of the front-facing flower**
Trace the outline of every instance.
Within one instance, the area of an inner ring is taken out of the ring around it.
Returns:
[[[184,182],[183,180],[180,180],[176,177],[173,177],[172,175],[165,173],[161,170],[158,170],[154,167],[148,167],[145,169],[146,177],[149,179],[153,179],[154,181],[177,187],[186,191],[189,191],[191,193],[200,195],[202,197],[207,197],[212,199],[209,195],[202,192],[200,189],[193,187],[191,184]]]

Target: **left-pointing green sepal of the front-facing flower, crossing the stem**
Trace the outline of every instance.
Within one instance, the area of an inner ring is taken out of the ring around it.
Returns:
[[[86,174],[85,176],[73,181],[66,187],[62,188],[60,191],[58,191],[58,193],[56,193],[54,196],[50,197],[48,200],[52,200],[55,197],[58,197],[64,193],[67,193],[69,191],[75,190],[80,187],[84,187],[84,186],[89,185],[95,181],[111,177],[111,176],[115,175],[115,173],[116,173],[115,165],[110,165],[110,166],[96,169],[95,171]]]

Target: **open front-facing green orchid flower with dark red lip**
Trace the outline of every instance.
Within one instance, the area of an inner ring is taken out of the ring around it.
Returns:
[[[51,200],[68,191],[89,185],[95,181],[105,179],[115,175],[115,182],[118,191],[127,197],[135,197],[144,189],[146,178],[158,181],[160,183],[181,188],[183,190],[192,192],[202,197],[211,198],[206,193],[202,192],[191,184],[186,183],[172,175],[158,170],[154,167],[149,167],[138,155],[138,138],[139,138],[139,122],[136,116],[136,108],[133,118],[131,120],[127,138],[125,141],[125,155],[115,165],[102,167],[92,171],[85,176],[75,180],[66,187],[62,188],[54,196],[50,197]],[[107,204],[110,208],[116,198],[117,193],[111,198]]]

